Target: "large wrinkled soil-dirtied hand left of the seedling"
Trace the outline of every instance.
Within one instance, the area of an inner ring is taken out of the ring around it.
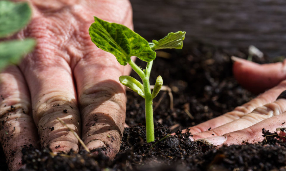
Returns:
[[[128,0],[29,1],[33,17],[16,37],[34,37],[37,46],[19,66],[0,73],[1,144],[10,170],[22,167],[24,145],[53,152],[78,151],[78,139],[112,158],[123,133],[126,95],[119,76],[130,68],[92,42],[93,16],[132,29]]]

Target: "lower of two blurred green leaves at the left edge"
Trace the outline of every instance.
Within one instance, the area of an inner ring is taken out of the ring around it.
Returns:
[[[0,42],[0,70],[11,63],[17,64],[22,56],[33,50],[35,40],[9,40]]]

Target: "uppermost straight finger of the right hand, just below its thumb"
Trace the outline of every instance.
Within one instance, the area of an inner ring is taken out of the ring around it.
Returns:
[[[210,119],[196,126],[190,127],[190,132],[192,134],[196,134],[199,132],[207,131],[209,128],[216,128],[223,124],[239,119],[242,116],[252,112],[255,108],[275,101],[276,98],[280,95],[280,93],[282,93],[285,89],[286,81],[282,81],[274,88],[264,92],[263,94],[257,96],[256,98],[243,104],[242,106],[236,107],[233,111]],[[185,130],[183,130],[183,132],[185,132]]]

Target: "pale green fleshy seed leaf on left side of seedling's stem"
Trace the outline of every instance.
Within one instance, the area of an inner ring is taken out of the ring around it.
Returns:
[[[122,75],[119,77],[119,81],[144,98],[144,87],[138,80],[128,75]]]

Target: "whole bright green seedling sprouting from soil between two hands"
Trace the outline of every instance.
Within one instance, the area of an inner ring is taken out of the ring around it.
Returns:
[[[146,135],[147,142],[155,140],[152,100],[155,98],[163,85],[163,79],[159,75],[151,93],[149,77],[153,60],[156,58],[155,50],[158,49],[182,49],[185,33],[178,31],[169,33],[163,39],[153,40],[148,43],[143,37],[121,24],[109,23],[94,17],[94,23],[89,28],[92,42],[100,49],[113,54],[121,65],[127,63],[142,79],[142,83],[127,75],[119,77],[120,83],[131,88],[145,98]],[[147,62],[146,68],[141,69],[131,57],[136,56]]]

